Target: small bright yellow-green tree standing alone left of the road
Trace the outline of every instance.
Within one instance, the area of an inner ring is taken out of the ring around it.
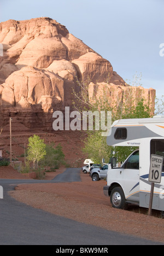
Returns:
[[[38,135],[33,135],[33,137],[28,138],[27,146],[27,159],[33,162],[33,168],[35,169],[35,164],[44,158],[46,155],[44,139],[40,139]]]

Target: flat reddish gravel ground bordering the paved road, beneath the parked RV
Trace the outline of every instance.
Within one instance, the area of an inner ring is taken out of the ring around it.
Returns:
[[[51,180],[63,171],[65,168],[48,172],[45,179]],[[112,208],[109,198],[103,194],[106,181],[92,182],[89,174],[80,175],[81,182],[17,185],[10,195],[32,207],[78,222],[164,242],[164,219],[156,213],[148,216],[137,206],[130,206],[127,211]],[[0,178],[26,177],[9,166],[0,167]]]

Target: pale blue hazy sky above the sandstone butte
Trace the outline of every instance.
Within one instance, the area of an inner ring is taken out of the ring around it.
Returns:
[[[164,95],[163,0],[0,0],[0,22],[41,16],[66,26],[127,83]]]

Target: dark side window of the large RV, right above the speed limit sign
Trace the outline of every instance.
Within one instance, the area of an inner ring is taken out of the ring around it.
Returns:
[[[164,156],[164,139],[151,139],[150,155],[151,154]],[[163,161],[162,172],[164,172],[164,161]]]

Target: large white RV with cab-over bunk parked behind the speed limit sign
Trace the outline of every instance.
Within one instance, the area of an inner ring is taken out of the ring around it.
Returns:
[[[151,183],[149,168],[151,154],[164,156],[164,116],[115,121],[107,137],[109,146],[138,147],[121,168],[112,167],[107,172],[104,194],[110,196],[115,208],[125,208],[136,203],[149,208]],[[164,211],[164,166],[161,183],[155,183],[153,209]]]

